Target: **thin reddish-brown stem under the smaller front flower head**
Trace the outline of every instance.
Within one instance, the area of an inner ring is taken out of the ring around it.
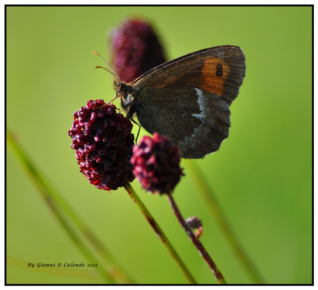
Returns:
[[[199,251],[200,255],[202,256],[202,258],[205,260],[205,262],[210,267],[210,269],[211,269],[212,273],[214,274],[215,278],[217,278],[217,280],[218,280],[218,282],[220,284],[227,284],[226,280],[224,279],[224,277],[222,275],[222,273],[218,269],[217,265],[213,262],[213,260],[210,257],[209,253],[205,250],[205,248],[202,245],[202,243],[200,242],[200,240],[195,236],[195,234],[192,232],[190,227],[187,225],[187,223],[183,219],[183,216],[182,216],[178,206],[176,205],[176,202],[175,202],[174,198],[172,197],[172,194],[168,193],[166,195],[167,195],[167,197],[169,199],[171,207],[172,207],[172,209],[173,209],[173,211],[174,211],[174,213],[176,215],[176,218],[178,219],[180,225],[183,227],[184,231],[189,236],[189,238],[190,238],[191,242],[193,243],[193,245],[196,246],[196,248]]]

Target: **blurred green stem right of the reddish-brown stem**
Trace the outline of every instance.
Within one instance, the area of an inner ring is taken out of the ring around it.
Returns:
[[[248,257],[243,246],[239,242],[238,237],[232,230],[225,213],[222,211],[214,192],[209,188],[209,185],[204,179],[202,172],[196,164],[196,161],[186,160],[186,162],[190,165],[187,166],[187,168],[191,170],[191,176],[195,181],[197,188],[199,188],[200,196],[203,199],[204,204],[209,207],[210,215],[216,220],[228,243],[232,247],[235,255],[244,266],[245,271],[249,274],[255,284],[264,284],[261,275],[253,264],[252,260]]]

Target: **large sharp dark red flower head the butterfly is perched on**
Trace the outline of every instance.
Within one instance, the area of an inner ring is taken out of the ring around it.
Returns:
[[[103,100],[90,100],[73,115],[68,135],[79,171],[89,182],[100,189],[116,190],[134,180],[129,162],[134,135],[129,119]]]

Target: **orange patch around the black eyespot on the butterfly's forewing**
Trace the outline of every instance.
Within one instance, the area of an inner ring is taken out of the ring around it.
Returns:
[[[222,69],[217,66],[222,65]],[[222,75],[218,76],[217,72],[222,71]],[[230,73],[230,67],[220,58],[207,59],[202,67],[203,81],[200,82],[200,88],[221,97],[224,93],[224,84]]]

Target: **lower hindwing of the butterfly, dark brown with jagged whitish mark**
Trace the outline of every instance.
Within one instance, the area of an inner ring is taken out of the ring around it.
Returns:
[[[178,145],[182,158],[203,158],[217,151],[230,127],[225,101],[198,88],[145,87],[135,112],[149,133],[167,136]]]

